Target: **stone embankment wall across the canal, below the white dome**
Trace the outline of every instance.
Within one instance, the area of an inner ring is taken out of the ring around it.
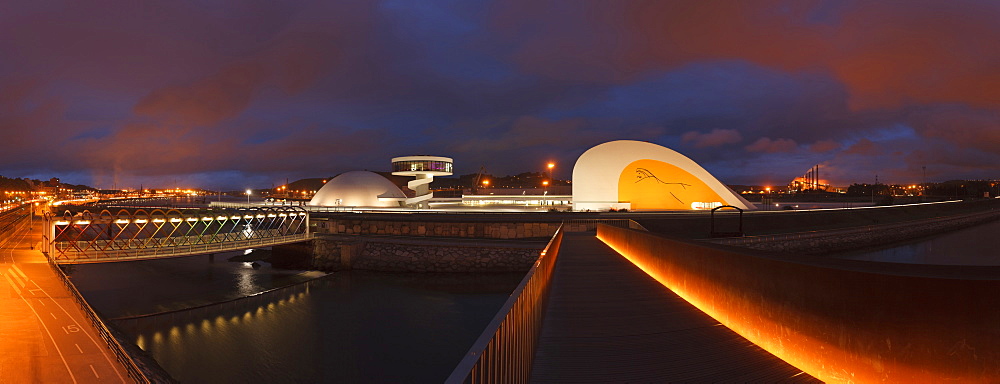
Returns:
[[[320,236],[312,267],[323,271],[517,272],[538,259],[544,242]]]

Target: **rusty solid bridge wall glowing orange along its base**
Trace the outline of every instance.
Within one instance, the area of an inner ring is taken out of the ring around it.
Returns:
[[[1000,382],[1000,267],[737,252],[601,225],[688,302],[828,382]]]

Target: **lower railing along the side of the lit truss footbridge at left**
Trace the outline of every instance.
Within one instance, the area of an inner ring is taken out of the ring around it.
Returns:
[[[71,244],[71,242],[56,242],[56,249],[60,249],[58,252],[59,258],[56,263],[59,264],[79,264],[88,262],[103,262],[103,261],[126,261],[126,260],[139,260],[139,259],[153,259],[153,258],[165,258],[171,256],[193,256],[206,253],[216,253],[216,252],[229,252],[229,251],[239,251],[255,247],[268,247],[273,245],[288,244],[304,240],[309,240],[312,238],[312,234],[308,233],[298,233],[294,235],[286,235],[280,237],[261,237],[261,238],[251,238],[246,240],[229,240],[229,241],[219,241],[214,243],[203,243],[203,244],[191,244],[191,245],[177,245],[177,246],[151,246],[148,248],[136,248],[136,249],[101,249],[99,251],[74,251],[73,249],[79,249],[79,245]],[[79,243],[87,243],[80,241]]]

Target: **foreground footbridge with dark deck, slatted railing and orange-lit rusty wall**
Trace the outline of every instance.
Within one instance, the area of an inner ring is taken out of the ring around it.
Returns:
[[[446,383],[1000,382],[1000,267],[628,227],[560,228]]]

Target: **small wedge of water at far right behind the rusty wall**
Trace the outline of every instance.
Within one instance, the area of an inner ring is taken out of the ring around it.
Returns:
[[[926,239],[834,257],[909,264],[1000,265],[996,242],[998,235],[1000,221],[994,221]]]

